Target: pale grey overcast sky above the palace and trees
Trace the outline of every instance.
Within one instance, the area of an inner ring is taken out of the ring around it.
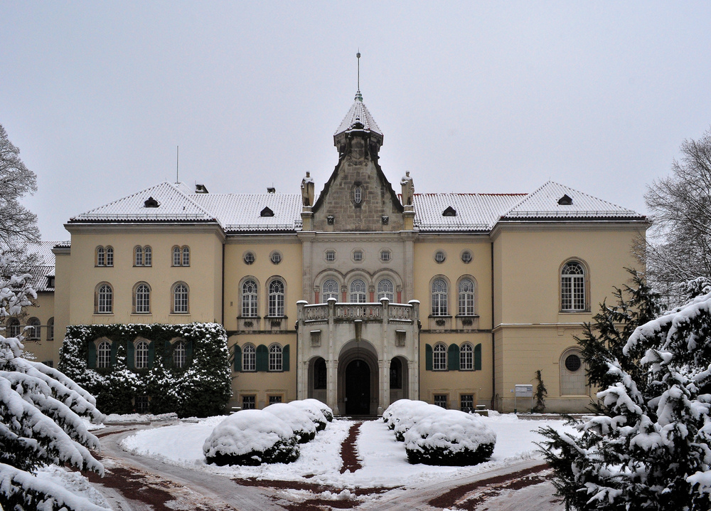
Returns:
[[[0,2],[0,124],[44,240],[160,181],[320,191],[360,90],[399,191],[552,179],[647,213],[711,125],[711,2]]]

